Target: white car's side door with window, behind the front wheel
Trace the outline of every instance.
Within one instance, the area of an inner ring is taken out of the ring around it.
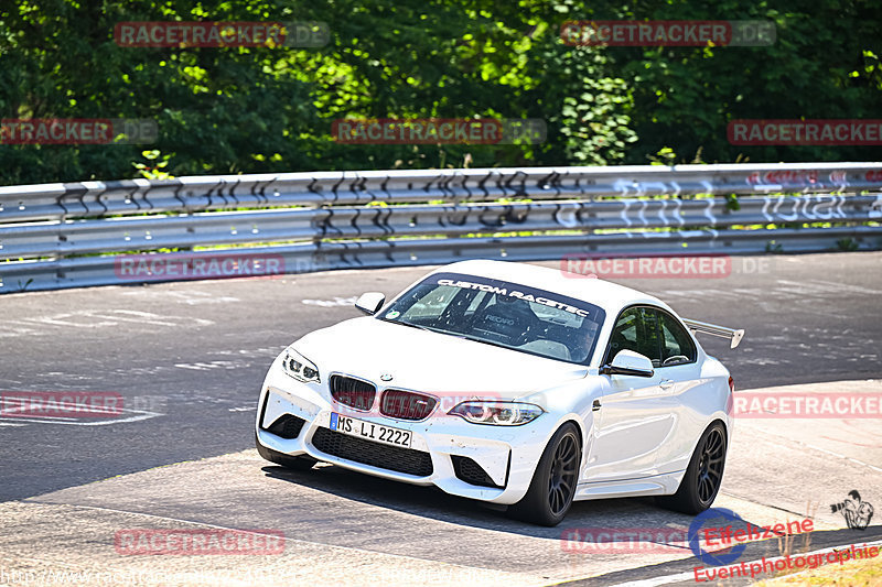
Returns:
[[[628,349],[662,365],[656,308],[633,306],[616,319],[603,363]],[[584,480],[634,479],[655,475],[659,445],[670,434],[670,405],[659,369],[653,377],[603,376],[603,395],[594,405],[594,433]]]

